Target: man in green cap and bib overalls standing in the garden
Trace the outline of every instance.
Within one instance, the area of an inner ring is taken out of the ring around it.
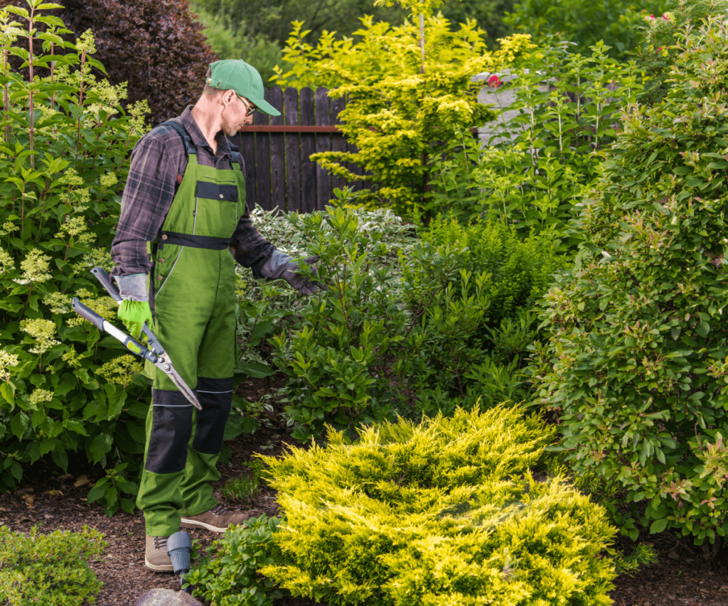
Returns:
[[[254,111],[280,116],[264,100],[258,71],[242,60],[218,61],[197,103],[132,151],[111,246],[119,319],[135,337],[144,322],[152,327],[202,404],[194,409],[147,364],[154,384],[136,504],[151,570],[172,570],[167,537],[180,527],[223,532],[248,517],[213,496],[234,389],[235,261],[257,279],[283,278],[304,295],[318,290],[250,221],[242,159],[226,135],[250,124]]]

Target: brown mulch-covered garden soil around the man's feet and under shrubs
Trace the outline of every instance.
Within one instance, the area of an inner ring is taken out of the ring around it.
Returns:
[[[250,380],[239,387],[241,396],[256,401],[280,386],[278,380]],[[277,407],[274,407],[276,410]],[[232,503],[220,488],[229,479],[249,472],[247,463],[256,453],[280,455],[290,432],[279,412],[266,413],[261,428],[254,434],[239,436],[226,442],[232,450],[230,462],[221,465],[223,477],[215,496],[229,509],[246,511],[251,515],[274,515],[277,512],[275,493],[267,487],[251,503]],[[27,533],[33,526],[41,532],[52,530],[81,530],[84,525],[105,535],[108,548],[90,566],[103,582],[95,604],[97,606],[131,606],[141,594],[161,587],[179,589],[179,581],[171,574],[152,573],[144,567],[144,520],[139,511],[126,514],[119,511],[109,519],[98,503],[86,503],[89,488],[102,477],[98,466],[71,463],[68,474],[58,474],[58,468],[43,461],[24,469],[18,490],[0,495],[0,525],[16,532]],[[205,530],[190,530],[202,549],[215,538]],[[670,533],[646,537],[659,554],[659,561],[643,568],[633,577],[622,575],[612,591],[615,606],[728,606],[728,548],[712,562],[703,559],[700,548],[678,540]],[[630,551],[630,541],[620,539],[619,549]],[[284,598],[277,606],[317,606],[307,599]],[[325,606],[325,605],[319,605]]]

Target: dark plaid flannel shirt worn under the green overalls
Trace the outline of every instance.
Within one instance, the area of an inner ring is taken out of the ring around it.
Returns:
[[[192,137],[197,148],[197,163],[216,169],[232,170],[232,154],[227,138],[218,133],[218,150],[213,154],[205,135],[197,126],[189,105],[175,120],[180,122]],[[241,158],[240,170],[245,173]],[[175,197],[175,185],[181,183],[187,167],[184,143],[172,127],[157,127],[148,132],[134,146],[129,177],[122,195],[122,214],[111,243],[111,258],[116,267],[112,276],[149,274],[151,260],[146,243],[157,239],[167,212]],[[253,276],[260,279],[261,267],[273,254],[275,247],[267,242],[250,220],[246,203],[230,240],[230,252],[243,267],[253,269]]]

